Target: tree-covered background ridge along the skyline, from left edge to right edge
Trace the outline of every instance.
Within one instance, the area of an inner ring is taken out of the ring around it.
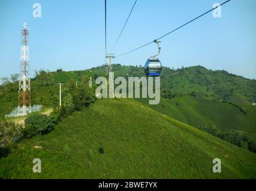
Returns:
[[[114,64],[113,71],[115,77],[144,76],[143,67]],[[17,106],[19,84],[17,78],[14,78],[15,76],[11,76],[11,82],[5,78],[4,84],[0,86],[0,118]],[[72,72],[65,72],[61,69],[58,69],[58,72],[37,71],[35,78],[31,81],[32,104],[52,106],[53,101],[58,101],[59,87],[57,84],[59,82],[67,83],[70,79],[80,83],[82,76],[92,76],[92,80],[95,81],[98,76],[106,76],[106,67],[99,66],[89,70]],[[253,110],[248,105],[251,106],[251,103],[256,102],[256,81],[230,74],[224,70],[208,70],[202,66],[176,70],[163,67],[161,96],[174,98],[185,95],[226,101],[242,106],[241,108],[245,111]]]

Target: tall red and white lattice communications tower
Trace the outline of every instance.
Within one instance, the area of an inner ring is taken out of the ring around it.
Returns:
[[[17,114],[23,116],[28,113],[31,113],[29,47],[28,29],[26,23],[24,23],[22,29],[22,47],[20,50],[19,105]]]

